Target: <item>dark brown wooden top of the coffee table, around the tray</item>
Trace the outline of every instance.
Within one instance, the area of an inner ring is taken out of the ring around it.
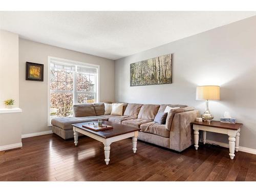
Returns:
[[[81,130],[87,131],[89,133],[92,133],[94,135],[97,135],[97,136],[105,138],[105,139],[110,138],[110,137],[115,137],[115,136],[118,136],[118,135],[123,135],[123,134],[126,134],[126,133],[140,131],[140,128],[127,126],[127,125],[122,125],[122,124],[118,124],[118,123],[112,123],[112,122],[109,122],[109,121],[102,121],[102,124],[112,125],[113,129],[110,129],[110,130],[96,132],[96,131],[89,130],[89,129],[86,129],[86,128],[82,127],[82,125],[92,123],[92,122],[98,123],[98,121],[90,121],[90,122],[83,122],[83,123],[75,123],[75,124],[72,124],[72,125],[81,129]]]

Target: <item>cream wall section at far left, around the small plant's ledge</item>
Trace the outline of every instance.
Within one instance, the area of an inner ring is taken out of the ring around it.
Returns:
[[[21,113],[2,110],[6,99],[14,99],[13,108],[18,108],[18,80],[18,35],[0,30],[0,151],[22,142]]]

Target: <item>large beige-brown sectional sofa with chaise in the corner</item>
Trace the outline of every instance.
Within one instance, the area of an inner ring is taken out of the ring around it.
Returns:
[[[154,122],[158,112],[164,112],[166,106],[171,110],[165,124]],[[190,122],[200,116],[191,106],[173,104],[136,104],[124,103],[123,115],[104,115],[104,103],[76,104],[74,117],[52,119],[52,131],[63,139],[73,138],[72,124],[98,119],[108,120],[129,126],[140,127],[138,139],[181,152],[193,144],[193,131]]]

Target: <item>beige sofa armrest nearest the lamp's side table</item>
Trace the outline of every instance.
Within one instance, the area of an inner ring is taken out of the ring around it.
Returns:
[[[170,127],[170,148],[175,151],[183,151],[193,144],[193,131],[190,125],[200,116],[198,110],[175,114]]]

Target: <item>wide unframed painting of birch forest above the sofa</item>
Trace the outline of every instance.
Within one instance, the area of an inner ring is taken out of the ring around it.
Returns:
[[[172,83],[172,54],[132,63],[130,86]]]

